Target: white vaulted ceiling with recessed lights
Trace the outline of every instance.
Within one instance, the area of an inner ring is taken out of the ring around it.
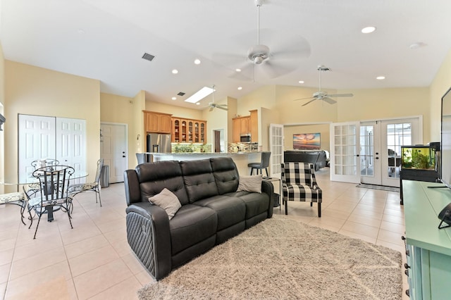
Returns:
[[[322,75],[326,89],[428,87],[451,49],[450,0],[264,0],[260,44],[271,49],[269,63],[290,72],[271,79],[264,63],[252,80],[254,0],[0,1],[7,60],[98,79],[101,92],[145,90],[147,99],[190,108],[199,106],[183,100],[204,86],[216,85],[215,99],[261,85],[318,87],[319,64],[332,70]],[[362,34],[368,25],[376,32]],[[410,49],[416,42],[425,46]],[[234,70],[246,66],[249,77],[240,80]],[[178,92],[186,94],[172,101]]]

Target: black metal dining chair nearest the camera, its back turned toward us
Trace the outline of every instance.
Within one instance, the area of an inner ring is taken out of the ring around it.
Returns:
[[[38,216],[35,236],[36,238],[37,228],[39,222],[44,213],[47,212],[48,220],[53,220],[54,207],[61,208],[61,211],[65,211],[68,214],[70,227],[72,226],[72,217],[70,216],[70,210],[72,206],[72,198],[68,195],[68,186],[70,176],[75,172],[74,168],[68,165],[54,165],[52,167],[37,168],[32,176],[36,177],[39,181],[39,191],[35,193],[34,197],[28,198],[28,213],[30,214],[30,227],[33,224],[32,211],[36,212]],[[27,197],[29,195],[27,194]]]

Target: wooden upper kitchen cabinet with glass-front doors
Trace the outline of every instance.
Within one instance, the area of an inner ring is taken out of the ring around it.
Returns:
[[[172,142],[206,143],[206,121],[185,118],[172,118]]]

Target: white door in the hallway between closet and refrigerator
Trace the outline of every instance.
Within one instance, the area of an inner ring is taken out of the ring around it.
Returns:
[[[101,123],[100,156],[109,165],[109,182],[123,182],[128,169],[128,127],[126,124]]]

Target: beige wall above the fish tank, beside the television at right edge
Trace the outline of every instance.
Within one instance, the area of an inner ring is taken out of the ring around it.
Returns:
[[[430,88],[430,137],[431,141],[440,141],[440,117],[442,96],[451,87],[451,50],[448,52]]]

